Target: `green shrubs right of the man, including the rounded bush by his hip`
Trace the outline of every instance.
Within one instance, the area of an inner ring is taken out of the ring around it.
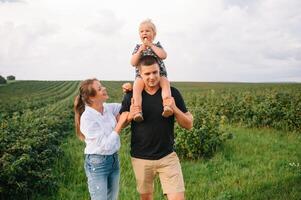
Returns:
[[[204,85],[190,88],[178,84],[194,116],[191,131],[176,126],[175,149],[181,157],[213,156],[233,136],[223,124],[301,131],[300,85],[237,85],[230,85],[230,89],[214,84],[215,89],[210,89],[210,84],[205,84],[207,88],[202,90]]]

